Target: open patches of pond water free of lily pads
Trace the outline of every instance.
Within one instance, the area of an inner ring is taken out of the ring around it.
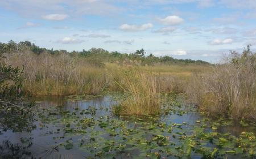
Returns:
[[[111,106],[117,104],[117,101],[112,100],[109,96],[104,97],[97,97],[92,98],[91,100],[67,100],[64,97],[43,97],[38,98],[38,102],[36,105],[43,107],[43,108],[50,108],[50,107],[60,107],[64,110],[68,110],[71,112],[75,112],[77,109],[79,110],[95,110],[94,115],[86,114],[86,117],[92,117],[98,119],[100,117],[105,117],[106,115],[112,116],[111,114]],[[84,115],[84,114],[77,114],[77,115]],[[112,118],[116,118],[113,117]],[[136,117],[135,117],[136,118]],[[138,117],[141,118],[141,117]],[[119,118],[122,121],[129,121],[128,127],[131,129],[136,130],[139,126],[137,123],[134,122],[134,118],[131,117],[123,117]],[[144,118],[146,120],[147,118]],[[189,130],[193,130],[193,126],[195,125],[196,121],[202,119],[200,113],[196,111],[188,111],[185,114],[179,113],[171,113],[162,115],[161,117],[157,118],[157,122],[164,122],[167,124],[183,124],[183,130],[186,130],[189,135]],[[10,156],[18,156],[18,158],[85,158],[88,156],[86,152],[79,149],[79,147],[74,147],[72,149],[65,149],[60,147],[59,143],[68,140],[72,140],[73,143],[76,143],[81,137],[85,136],[65,136],[64,132],[58,130],[64,130],[66,127],[63,124],[46,124],[46,126],[40,126],[40,121],[35,122],[37,128],[32,132],[12,132],[6,131],[2,132],[3,134],[0,135],[0,158],[11,158]],[[100,128],[96,128],[94,131],[98,131]],[[221,133],[230,132],[233,135],[239,136],[242,131],[247,131],[248,128],[241,127],[239,125],[234,126],[226,126],[220,127],[217,131]],[[101,130],[102,131],[102,130]],[[209,130],[210,131],[210,130]],[[251,130],[249,130],[251,131]],[[190,132],[191,133],[191,132]],[[167,134],[166,134],[167,135]],[[53,137],[55,138],[53,140]],[[104,136],[108,139],[109,136]],[[152,137],[152,134],[146,134],[146,138],[149,140]],[[175,141],[175,140],[174,140]],[[178,141],[177,141],[178,142]],[[13,145],[13,146],[11,146]],[[134,154],[139,153],[136,152],[138,150],[134,150]],[[127,152],[126,152],[127,153]],[[125,157],[126,156],[126,157]],[[129,158],[126,154],[121,154],[117,158]],[[200,156],[193,156],[193,158],[200,158]]]

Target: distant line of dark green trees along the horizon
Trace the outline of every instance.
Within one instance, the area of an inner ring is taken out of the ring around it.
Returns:
[[[164,63],[166,65],[172,64],[199,64],[209,65],[208,62],[202,60],[192,59],[176,59],[165,55],[156,57],[154,54],[147,54],[144,49],[137,50],[134,53],[120,53],[118,51],[107,51],[101,48],[92,48],[90,50],[83,49],[82,51],[67,51],[67,50],[53,50],[40,48],[30,41],[20,41],[19,43],[13,40],[8,43],[0,42],[1,53],[12,53],[22,50],[30,50],[35,54],[49,53],[49,54],[69,54],[79,55],[80,57],[88,58],[91,62],[105,63],[105,62],[123,62],[123,61],[139,61],[142,65],[154,65],[155,63]]]

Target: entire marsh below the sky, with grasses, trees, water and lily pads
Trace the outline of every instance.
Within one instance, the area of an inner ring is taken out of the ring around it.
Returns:
[[[249,46],[216,65],[143,49],[68,53],[10,41],[0,50],[2,158],[256,157]]]

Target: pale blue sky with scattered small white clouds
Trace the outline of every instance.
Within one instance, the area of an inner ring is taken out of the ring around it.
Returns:
[[[1,0],[0,42],[218,62],[256,49],[255,0]]]

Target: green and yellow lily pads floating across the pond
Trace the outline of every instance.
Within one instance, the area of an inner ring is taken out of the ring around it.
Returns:
[[[194,123],[163,120],[166,115],[187,113],[174,99],[156,117],[116,117],[111,109],[94,106],[40,110],[40,128],[55,126],[51,133],[56,145],[52,147],[80,149],[86,158],[256,158],[253,132],[234,136],[218,131],[234,124],[232,120],[213,121],[203,113]],[[98,115],[100,111],[107,115]]]

